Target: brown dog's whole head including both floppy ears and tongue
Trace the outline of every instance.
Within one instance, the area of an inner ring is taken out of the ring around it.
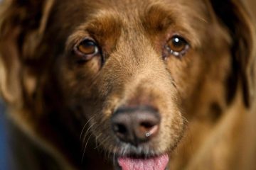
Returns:
[[[2,96],[31,127],[53,118],[79,141],[85,126],[82,138],[91,134],[123,168],[164,169],[186,120],[215,123],[238,87],[250,107],[254,28],[240,1],[5,6]]]

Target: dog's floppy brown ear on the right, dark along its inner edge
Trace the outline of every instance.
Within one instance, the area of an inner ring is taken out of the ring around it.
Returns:
[[[245,106],[250,107],[256,76],[255,25],[242,0],[210,0],[210,3],[220,23],[228,28],[233,40],[231,52],[234,75],[230,77],[228,84],[236,86],[238,79],[242,82]],[[234,94],[235,91],[231,91],[228,98],[233,98]]]

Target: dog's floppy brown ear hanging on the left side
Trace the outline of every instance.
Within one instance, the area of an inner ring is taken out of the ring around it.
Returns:
[[[8,102],[21,106],[23,89],[33,91],[35,80],[24,74],[24,62],[33,56],[43,37],[54,0],[6,0],[0,8],[0,92]],[[25,87],[26,86],[26,87]]]

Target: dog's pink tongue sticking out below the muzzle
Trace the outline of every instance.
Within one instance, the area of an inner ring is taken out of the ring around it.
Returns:
[[[169,157],[168,154],[150,159],[119,157],[117,161],[122,170],[164,170],[169,162]]]

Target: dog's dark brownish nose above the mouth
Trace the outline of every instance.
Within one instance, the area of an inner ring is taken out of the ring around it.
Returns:
[[[119,108],[112,116],[112,130],[119,140],[139,145],[159,131],[160,115],[149,106]]]

